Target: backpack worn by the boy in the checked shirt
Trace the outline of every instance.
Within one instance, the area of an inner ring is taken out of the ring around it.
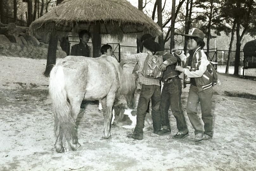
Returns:
[[[141,74],[151,79],[162,79],[163,72],[159,69],[163,63],[163,56],[150,55],[146,57]]]

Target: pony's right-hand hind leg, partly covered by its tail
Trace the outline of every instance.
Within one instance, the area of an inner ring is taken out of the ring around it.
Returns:
[[[75,97],[69,97],[69,103],[71,107],[71,116],[74,119],[74,122],[76,123],[77,116],[80,112],[80,105],[82,103],[82,100],[84,98],[84,94],[79,94]],[[75,132],[71,134],[69,144],[72,150],[77,150],[79,147],[81,147],[80,143],[78,143],[77,138],[77,129],[75,129]]]

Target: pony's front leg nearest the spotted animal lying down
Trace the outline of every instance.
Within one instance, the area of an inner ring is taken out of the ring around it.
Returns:
[[[108,95],[106,98],[106,110],[104,111],[104,136],[106,139],[111,137],[110,125],[112,119],[112,106],[114,104],[114,99],[115,93]]]

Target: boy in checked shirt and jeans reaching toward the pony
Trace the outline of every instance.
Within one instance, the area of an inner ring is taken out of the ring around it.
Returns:
[[[143,53],[132,54],[130,56],[125,56],[121,59],[120,66],[123,67],[126,63],[136,64],[138,63],[138,80],[142,85],[138,106],[137,106],[137,122],[133,133],[127,136],[133,139],[142,140],[143,139],[143,128],[144,120],[146,116],[146,110],[148,108],[148,103],[151,99],[151,115],[153,120],[154,133],[157,134],[161,130],[160,121],[160,103],[161,103],[161,86],[160,80],[156,78],[145,77],[142,73],[144,68],[144,63],[148,55],[154,57],[154,53],[158,51],[159,44],[153,40],[147,39],[143,42]],[[146,63],[147,64],[147,63]],[[159,66],[160,71],[166,70],[166,67],[170,65],[168,60],[164,61],[161,66]]]

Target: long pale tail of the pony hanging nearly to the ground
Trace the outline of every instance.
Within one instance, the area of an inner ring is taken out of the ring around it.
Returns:
[[[67,101],[67,92],[65,90],[65,79],[62,66],[54,66],[50,73],[49,93],[52,98],[54,112],[54,130],[56,144],[63,134],[68,142],[70,138],[76,137],[75,121],[71,116],[71,109]],[[59,137],[60,136],[60,137]]]

